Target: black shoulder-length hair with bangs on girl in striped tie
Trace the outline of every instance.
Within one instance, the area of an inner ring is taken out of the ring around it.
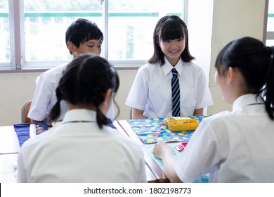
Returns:
[[[164,53],[159,46],[160,39],[163,41],[185,39],[185,50],[181,53],[181,58],[185,62],[190,62],[194,59],[190,55],[188,47],[188,27],[178,15],[166,15],[156,24],[153,32],[154,53],[148,63],[160,63],[164,65]]]

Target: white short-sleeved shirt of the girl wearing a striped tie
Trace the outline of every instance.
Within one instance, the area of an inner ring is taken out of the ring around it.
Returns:
[[[172,68],[176,68],[180,83],[181,116],[193,115],[195,109],[213,104],[204,71],[191,62],[178,61],[175,67],[147,63],[138,69],[126,105],[143,110],[145,117],[171,117]]]

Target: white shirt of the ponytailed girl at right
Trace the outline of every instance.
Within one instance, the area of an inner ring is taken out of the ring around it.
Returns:
[[[175,165],[182,182],[274,182],[274,121],[263,99],[240,96],[231,112],[205,117]]]

